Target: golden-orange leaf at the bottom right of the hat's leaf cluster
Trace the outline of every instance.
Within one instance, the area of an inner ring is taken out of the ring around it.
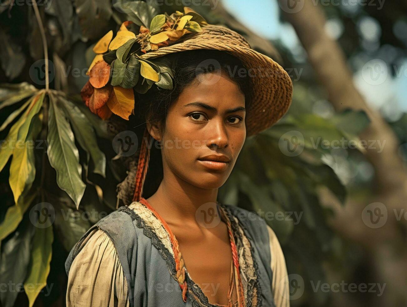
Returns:
[[[114,86],[112,96],[107,101],[107,106],[112,112],[121,118],[129,120],[129,115],[134,108],[133,88]]]

